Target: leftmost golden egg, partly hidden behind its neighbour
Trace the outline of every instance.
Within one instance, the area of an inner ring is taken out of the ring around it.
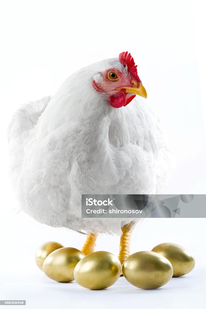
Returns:
[[[56,243],[55,241],[48,241],[47,243],[43,243],[36,250],[35,254],[36,265],[39,267],[39,269],[42,270],[44,260],[51,252],[63,247],[64,246],[62,246],[61,243]]]

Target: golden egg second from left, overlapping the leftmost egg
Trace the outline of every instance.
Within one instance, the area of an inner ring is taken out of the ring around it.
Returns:
[[[43,272],[58,282],[74,280],[74,269],[84,254],[75,248],[64,247],[50,253],[44,261]]]

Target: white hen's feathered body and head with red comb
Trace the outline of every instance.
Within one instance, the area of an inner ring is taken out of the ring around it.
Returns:
[[[81,218],[81,194],[163,192],[167,149],[157,117],[135,94],[146,97],[126,52],[75,72],[53,97],[15,113],[11,176],[21,210],[93,236],[130,232],[138,219]]]

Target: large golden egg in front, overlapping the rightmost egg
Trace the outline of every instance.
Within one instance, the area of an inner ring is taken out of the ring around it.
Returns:
[[[122,273],[133,286],[157,289],[170,281],[173,269],[164,256],[151,251],[139,251],[124,261]]]

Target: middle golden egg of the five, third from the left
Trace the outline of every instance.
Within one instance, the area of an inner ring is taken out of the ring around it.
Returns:
[[[76,282],[84,288],[102,290],[112,286],[121,274],[118,258],[106,251],[97,251],[85,256],[75,267]]]

